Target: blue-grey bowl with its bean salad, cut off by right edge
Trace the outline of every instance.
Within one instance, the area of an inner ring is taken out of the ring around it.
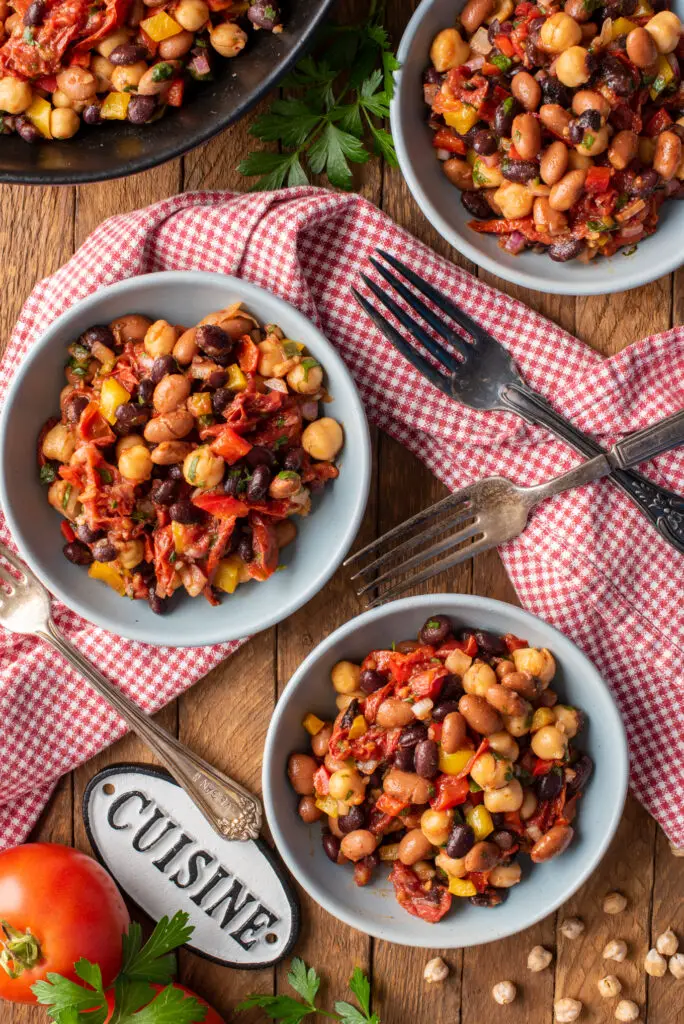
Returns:
[[[437,230],[540,291],[604,294],[679,266],[677,7],[424,0],[399,46],[391,117]]]

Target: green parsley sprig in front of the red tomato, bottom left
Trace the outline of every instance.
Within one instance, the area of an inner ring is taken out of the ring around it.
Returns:
[[[188,915],[181,911],[162,918],[142,944],[142,929],[133,922],[123,936],[121,972],[114,983],[111,1024],[196,1024],[207,1010],[194,996],[171,984],[176,970],[173,950],[193,934]],[[55,1024],[103,1024],[109,1013],[102,974],[96,964],[80,959],[74,965],[80,985],[59,974],[33,986],[38,1001]],[[157,994],[153,984],[163,985]]]

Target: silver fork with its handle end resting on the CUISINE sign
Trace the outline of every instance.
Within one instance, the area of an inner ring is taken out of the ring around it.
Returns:
[[[144,739],[219,836],[229,840],[256,839],[261,830],[262,809],[254,794],[194,754],[113,686],[59,633],[52,622],[50,595],[29,566],[3,544],[0,555],[16,572],[14,575],[0,563],[0,626],[11,633],[40,637],[59,651]]]

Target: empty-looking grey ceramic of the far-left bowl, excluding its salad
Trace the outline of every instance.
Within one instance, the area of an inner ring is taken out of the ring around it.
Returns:
[[[329,416],[345,431],[340,475],[316,496],[299,535],[284,551],[287,570],[266,583],[250,583],[217,608],[204,598],[181,597],[167,615],[146,602],[128,601],[61,553],[60,517],[38,481],[36,438],[59,408],[67,345],[91,324],[127,312],[196,324],[208,312],[243,300],[261,323],[280,324],[323,364],[333,401]],[[351,545],[366,508],[370,440],[364,407],[352,378],[314,325],[270,292],[220,273],[151,273],[103,288],[60,316],[34,345],[11,382],[0,420],[0,501],[19,552],[65,604],[103,629],[151,644],[199,647],[257,633],[287,618],[328,582]]]

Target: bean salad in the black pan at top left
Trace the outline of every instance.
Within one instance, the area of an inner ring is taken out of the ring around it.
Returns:
[[[0,134],[26,142],[156,120],[248,29],[283,28],[271,0],[0,0]]]

